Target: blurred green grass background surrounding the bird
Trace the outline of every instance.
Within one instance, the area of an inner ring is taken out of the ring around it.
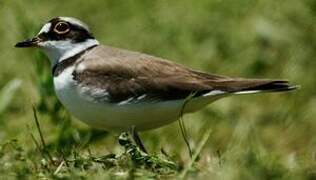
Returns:
[[[32,141],[31,134],[37,137],[33,106],[52,152],[71,151],[74,144],[81,154],[122,151],[117,134],[70,120],[54,96],[49,62],[39,50],[14,48],[56,16],[81,19],[102,44],[205,72],[300,84],[295,92],[226,98],[186,115],[193,148],[212,130],[189,175],[316,178],[315,0],[1,0],[0,177],[51,177]],[[152,153],[163,148],[184,166],[190,160],[178,123],[141,136]],[[120,177],[118,172],[126,171],[92,167],[60,177]],[[139,177],[160,175],[148,171]]]

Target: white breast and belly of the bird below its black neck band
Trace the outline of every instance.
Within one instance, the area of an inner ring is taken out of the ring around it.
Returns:
[[[73,81],[72,71],[68,68],[54,77],[56,94],[75,117],[94,128],[110,131],[125,131],[132,126],[137,130],[153,129],[177,120],[180,115],[183,100],[121,105],[92,101]],[[194,98],[185,106],[185,112],[198,110],[218,98]]]

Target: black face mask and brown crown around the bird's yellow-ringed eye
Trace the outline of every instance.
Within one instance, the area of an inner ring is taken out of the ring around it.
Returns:
[[[78,42],[83,42],[86,41],[87,39],[94,39],[93,35],[86,30],[85,28],[76,25],[76,24],[71,24],[67,21],[63,21],[62,19],[59,18],[54,18],[49,21],[51,23],[51,27],[47,33],[41,33],[39,37],[41,39],[45,40],[66,40],[66,39],[71,39],[72,42],[78,43]],[[70,26],[70,31],[65,33],[65,34],[57,34],[54,32],[54,27],[56,26],[57,23],[59,22],[65,22],[68,23]]]

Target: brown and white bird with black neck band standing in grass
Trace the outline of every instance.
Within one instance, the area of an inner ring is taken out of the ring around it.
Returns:
[[[15,47],[48,56],[58,99],[77,119],[97,129],[131,132],[159,128],[233,95],[296,89],[287,80],[205,73],[152,55],[101,45],[73,17],[55,17]],[[184,106],[185,105],[185,106]]]

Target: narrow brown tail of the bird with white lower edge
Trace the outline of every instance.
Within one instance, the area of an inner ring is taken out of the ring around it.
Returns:
[[[298,89],[298,85],[290,85],[286,80],[269,79],[229,79],[216,83],[217,89],[232,94],[252,94],[263,92],[282,92]]]

